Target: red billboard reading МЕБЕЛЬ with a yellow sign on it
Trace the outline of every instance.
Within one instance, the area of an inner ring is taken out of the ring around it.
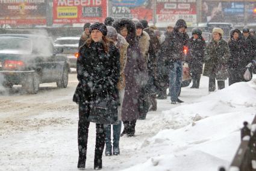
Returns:
[[[107,0],[54,0],[53,23],[104,22]]]

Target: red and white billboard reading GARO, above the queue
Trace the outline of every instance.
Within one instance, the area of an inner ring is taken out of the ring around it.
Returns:
[[[196,24],[196,0],[157,0],[157,23],[175,24],[184,19],[187,25]]]

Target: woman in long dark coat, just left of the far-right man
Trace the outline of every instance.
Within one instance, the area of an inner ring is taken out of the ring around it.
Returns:
[[[246,55],[246,42],[240,30],[233,30],[228,40],[230,58],[228,60],[229,85],[243,81],[243,73],[250,58]]]

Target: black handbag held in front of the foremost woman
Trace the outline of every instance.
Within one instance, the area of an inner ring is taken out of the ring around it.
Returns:
[[[112,98],[97,98],[90,103],[88,121],[101,124],[117,124],[117,107],[119,102]]]

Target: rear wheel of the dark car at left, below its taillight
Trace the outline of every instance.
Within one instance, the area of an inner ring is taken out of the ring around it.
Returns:
[[[36,94],[39,91],[40,78],[38,73],[31,73],[26,76],[25,82],[22,87],[27,93]]]

